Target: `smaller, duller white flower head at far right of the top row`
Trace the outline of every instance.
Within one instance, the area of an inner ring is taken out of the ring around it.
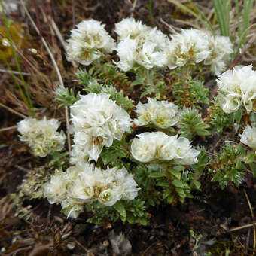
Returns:
[[[209,36],[209,50],[211,53],[204,64],[211,66],[213,74],[220,75],[233,53],[233,44],[227,36]]]

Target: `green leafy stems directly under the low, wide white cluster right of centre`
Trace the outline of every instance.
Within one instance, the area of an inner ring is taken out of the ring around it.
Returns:
[[[184,172],[184,166],[172,166],[170,163],[151,164],[149,166],[139,164],[134,170],[136,181],[144,189],[140,197],[150,206],[160,203],[160,190],[162,188],[163,200],[175,204],[178,201],[184,203],[186,197],[192,197],[192,187],[199,189],[200,182],[196,181],[193,172]],[[189,173],[189,174],[188,174]]]

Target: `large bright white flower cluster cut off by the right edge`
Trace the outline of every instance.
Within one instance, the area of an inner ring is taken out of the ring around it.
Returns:
[[[226,113],[237,111],[242,105],[246,111],[256,111],[256,72],[252,66],[236,66],[217,79],[218,97]]]

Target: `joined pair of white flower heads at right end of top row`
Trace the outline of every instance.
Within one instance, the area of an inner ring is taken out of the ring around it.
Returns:
[[[171,35],[171,38],[167,55],[169,69],[204,61],[218,75],[224,71],[226,62],[233,53],[230,38],[213,37],[197,29],[181,29],[180,34]]]

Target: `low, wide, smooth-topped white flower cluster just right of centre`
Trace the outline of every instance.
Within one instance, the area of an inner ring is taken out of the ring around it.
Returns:
[[[131,153],[142,163],[159,160],[173,160],[175,164],[190,165],[197,163],[200,151],[191,148],[186,138],[167,136],[162,132],[141,133],[133,139]]]

